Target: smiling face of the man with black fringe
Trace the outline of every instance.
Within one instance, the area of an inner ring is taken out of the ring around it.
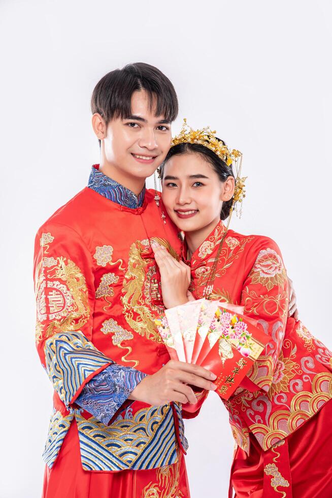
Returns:
[[[146,92],[135,91],[131,96],[131,115],[109,122],[102,153],[117,180],[145,179],[164,160],[171,146],[171,123],[164,116],[155,116],[154,111],[154,105],[149,109]]]

